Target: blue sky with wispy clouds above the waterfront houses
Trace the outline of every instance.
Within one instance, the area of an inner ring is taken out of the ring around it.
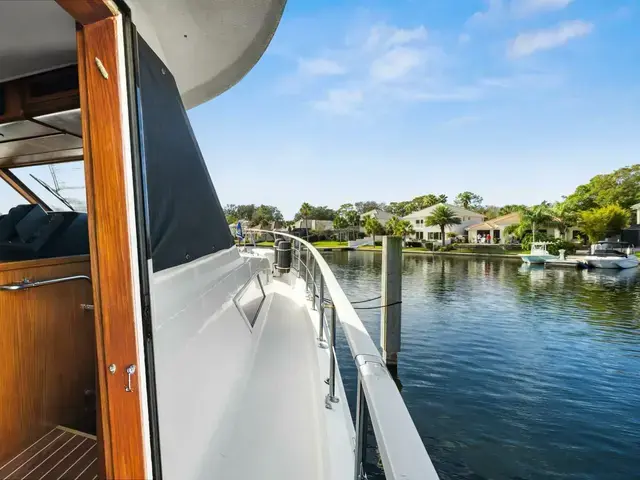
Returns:
[[[638,161],[639,20],[632,0],[290,0],[189,116],[223,204],[553,201]]]

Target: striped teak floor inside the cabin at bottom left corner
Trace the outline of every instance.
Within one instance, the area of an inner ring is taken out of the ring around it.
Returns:
[[[0,480],[93,480],[98,478],[96,437],[56,427],[0,466]]]

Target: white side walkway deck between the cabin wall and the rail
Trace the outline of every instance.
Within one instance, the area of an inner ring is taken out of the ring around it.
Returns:
[[[254,327],[250,374],[241,398],[226,415],[226,441],[219,450],[216,475],[229,480],[335,479],[327,462],[327,428],[333,422],[328,424],[325,415],[341,413],[325,413],[317,333],[307,307],[296,301],[289,285],[271,282],[265,292]],[[352,447],[345,423],[333,425],[344,430],[342,435],[331,432],[331,438],[343,439],[345,455],[339,457],[348,461]],[[343,478],[353,478],[350,466],[342,465]]]

